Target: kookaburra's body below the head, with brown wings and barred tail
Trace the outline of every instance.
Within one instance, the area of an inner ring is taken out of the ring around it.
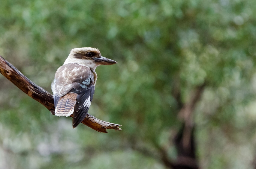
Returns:
[[[73,114],[73,128],[88,112],[94,94],[94,76],[90,68],[77,63],[64,64],[56,71],[52,85],[55,115],[68,117]]]

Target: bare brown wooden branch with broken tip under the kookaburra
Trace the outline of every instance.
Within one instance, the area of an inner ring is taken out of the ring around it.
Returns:
[[[48,110],[51,111],[52,114],[54,114],[53,95],[29,80],[2,56],[0,56],[0,73],[4,75],[8,80],[10,80],[20,90],[26,93],[29,97],[44,105]],[[102,121],[89,114],[86,115],[82,123],[88,127],[91,127],[93,130],[102,133],[107,133],[107,129],[114,129],[119,131],[122,130],[120,128],[120,124]]]

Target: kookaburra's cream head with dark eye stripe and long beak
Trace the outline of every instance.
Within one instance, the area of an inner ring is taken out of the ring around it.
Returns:
[[[74,48],[71,50],[64,64],[79,63],[95,70],[99,65],[113,65],[117,62],[101,56],[101,52],[96,48]]]

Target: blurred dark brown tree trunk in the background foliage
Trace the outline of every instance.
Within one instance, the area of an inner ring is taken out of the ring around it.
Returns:
[[[174,145],[177,150],[177,159],[171,162],[167,158],[166,151],[162,151],[162,160],[164,164],[173,169],[198,169],[198,161],[196,157],[196,145],[195,145],[195,136],[194,129],[195,124],[193,121],[193,112],[195,105],[200,101],[201,95],[205,84],[198,86],[194,92],[191,93],[190,100],[182,104],[180,100],[180,94],[177,94],[177,102],[180,104],[180,111],[178,117],[182,119],[183,124],[179,132],[176,134],[173,139]]]

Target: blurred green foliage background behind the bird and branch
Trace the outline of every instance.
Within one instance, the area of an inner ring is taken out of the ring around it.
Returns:
[[[56,117],[0,75],[0,168],[256,168],[255,0],[3,0],[0,55],[51,92],[72,48],[95,47],[89,113]]]

